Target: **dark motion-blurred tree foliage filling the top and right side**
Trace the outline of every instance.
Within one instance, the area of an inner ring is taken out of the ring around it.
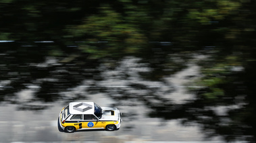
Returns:
[[[255,140],[255,1],[3,0],[0,13],[0,77],[10,87],[0,89],[0,100],[35,84],[39,99],[54,101],[100,73],[84,68],[126,55],[144,58],[153,69],[144,77],[161,80],[186,66],[188,52],[199,52],[209,58],[199,62],[202,78],[193,84],[205,88],[193,89],[190,103],[153,106],[157,117],[196,121],[227,140]],[[223,117],[207,108],[216,105],[239,107]]]

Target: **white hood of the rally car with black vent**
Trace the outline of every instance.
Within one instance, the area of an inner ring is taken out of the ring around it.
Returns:
[[[103,120],[119,120],[120,119],[120,112],[116,107],[101,107],[102,109],[102,117],[101,121]]]

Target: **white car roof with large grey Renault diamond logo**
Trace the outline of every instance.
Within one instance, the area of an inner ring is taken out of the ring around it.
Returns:
[[[94,102],[71,102],[70,113],[71,114],[94,114],[95,109]]]

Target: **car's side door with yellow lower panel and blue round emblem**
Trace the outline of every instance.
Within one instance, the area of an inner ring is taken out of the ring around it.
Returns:
[[[82,122],[84,129],[99,129],[103,128],[102,123],[93,114],[85,114]]]

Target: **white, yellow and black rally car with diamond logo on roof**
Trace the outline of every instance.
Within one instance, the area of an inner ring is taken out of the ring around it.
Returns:
[[[59,126],[65,132],[119,130],[121,122],[121,113],[116,107],[100,107],[94,102],[72,102],[59,113]]]

